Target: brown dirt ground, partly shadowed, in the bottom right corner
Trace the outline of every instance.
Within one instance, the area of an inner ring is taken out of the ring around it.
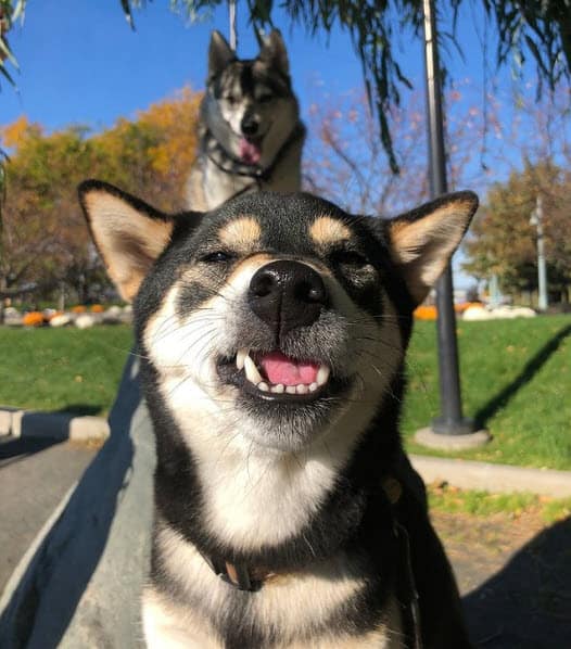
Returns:
[[[485,649],[560,649],[571,638],[571,518],[485,518],[433,511],[464,596],[472,640]]]

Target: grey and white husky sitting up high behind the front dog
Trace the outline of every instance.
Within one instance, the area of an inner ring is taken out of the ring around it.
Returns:
[[[213,209],[249,191],[300,189],[305,127],[277,29],[254,60],[237,59],[213,33],[199,138],[188,184],[191,209]]]

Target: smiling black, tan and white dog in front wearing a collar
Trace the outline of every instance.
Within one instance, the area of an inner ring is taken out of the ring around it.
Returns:
[[[148,646],[469,647],[398,418],[413,310],[475,195],[392,220],[305,193],[175,216],[99,181],[80,200],[135,298],[156,434]]]

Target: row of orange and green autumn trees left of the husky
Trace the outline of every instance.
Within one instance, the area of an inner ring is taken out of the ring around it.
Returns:
[[[196,154],[200,100],[185,88],[98,133],[77,126],[47,133],[25,117],[2,128],[0,145],[11,152],[11,162],[0,293],[36,282],[38,294],[64,287],[85,301],[93,283],[106,282],[77,203],[77,184],[99,178],[163,209],[181,209]]]

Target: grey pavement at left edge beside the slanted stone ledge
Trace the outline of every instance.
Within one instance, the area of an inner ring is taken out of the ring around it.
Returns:
[[[0,437],[0,593],[96,453],[74,442]]]

